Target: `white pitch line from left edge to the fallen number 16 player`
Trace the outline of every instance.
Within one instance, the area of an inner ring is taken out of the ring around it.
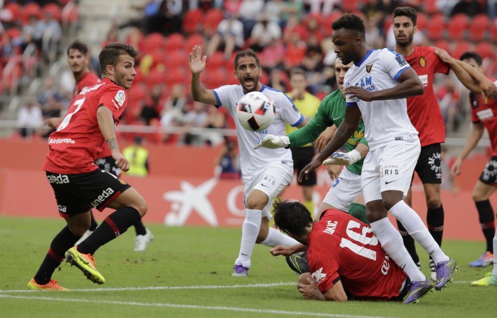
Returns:
[[[87,288],[71,289],[72,292],[119,292],[135,290],[175,290],[175,289],[226,289],[226,288],[250,288],[250,287],[275,287],[275,286],[293,286],[297,283],[270,283],[270,284],[244,284],[244,285],[199,285],[199,286],[149,286],[149,287],[117,287],[117,288]],[[36,290],[0,290],[0,294],[5,293],[31,293],[39,292]]]

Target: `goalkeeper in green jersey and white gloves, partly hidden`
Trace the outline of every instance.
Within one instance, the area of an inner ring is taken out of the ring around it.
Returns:
[[[323,136],[320,137],[320,134],[325,132],[328,127],[333,125],[336,127],[340,126],[345,113],[345,98],[341,93],[343,79],[351,66],[352,63],[343,65],[340,59],[336,59],[335,77],[339,89],[323,99],[316,115],[306,126],[287,136],[266,135],[258,141],[254,149],[260,147],[270,149],[301,147],[317,139],[321,142]],[[324,139],[327,143],[331,139],[331,136]],[[336,177],[335,182],[326,194],[316,219],[320,217],[323,211],[334,208],[347,212],[362,222],[369,224],[366,219],[366,207],[364,206],[364,199],[361,194],[362,162],[369,151],[368,143],[364,139],[364,123],[362,120],[359,123],[357,131],[350,136],[345,144],[345,149],[347,153],[336,152],[324,162],[324,164],[328,165],[344,165],[345,169]]]

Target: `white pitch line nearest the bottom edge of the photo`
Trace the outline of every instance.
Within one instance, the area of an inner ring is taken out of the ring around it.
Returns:
[[[354,315],[340,315],[340,314],[328,314],[328,313],[292,312],[292,311],[273,310],[273,309],[255,309],[255,308],[221,307],[221,306],[199,306],[199,305],[182,305],[182,304],[169,304],[169,303],[119,302],[119,301],[110,301],[110,300],[89,300],[89,299],[75,299],[75,298],[38,297],[38,296],[0,295],[0,298],[46,300],[46,301],[58,301],[58,302],[62,301],[62,302],[92,303],[92,304],[129,305],[129,306],[144,306],[144,307],[166,307],[166,308],[218,310],[218,311],[229,311],[229,312],[275,314],[275,315],[286,315],[286,316],[306,316],[306,317],[312,316],[312,317],[338,317],[338,318],[381,318],[378,316],[354,316]]]

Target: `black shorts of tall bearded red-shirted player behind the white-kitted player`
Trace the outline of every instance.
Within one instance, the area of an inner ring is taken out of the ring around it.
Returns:
[[[442,183],[442,167],[440,166],[440,144],[432,144],[421,147],[419,159],[417,159],[416,171],[419,179],[425,183]],[[411,185],[413,184],[411,179]]]

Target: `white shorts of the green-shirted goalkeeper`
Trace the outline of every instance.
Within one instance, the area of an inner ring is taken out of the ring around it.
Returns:
[[[330,190],[328,190],[323,202],[348,213],[350,203],[354,201],[360,192],[361,175],[343,168]]]

